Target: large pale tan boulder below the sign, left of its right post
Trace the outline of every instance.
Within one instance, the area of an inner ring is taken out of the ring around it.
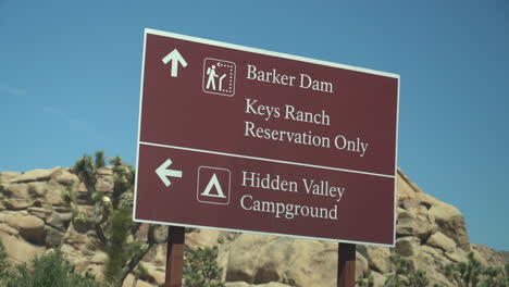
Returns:
[[[337,244],[241,234],[232,242],[226,280],[335,286]]]

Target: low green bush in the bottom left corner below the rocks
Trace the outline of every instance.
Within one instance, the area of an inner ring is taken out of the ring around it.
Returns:
[[[1,255],[0,255],[1,257]],[[0,259],[1,261],[1,259]],[[13,270],[4,270],[0,277],[2,287],[100,287],[101,285],[89,275],[74,272],[74,266],[65,259],[62,251],[55,251],[36,257],[33,267],[20,264]]]

